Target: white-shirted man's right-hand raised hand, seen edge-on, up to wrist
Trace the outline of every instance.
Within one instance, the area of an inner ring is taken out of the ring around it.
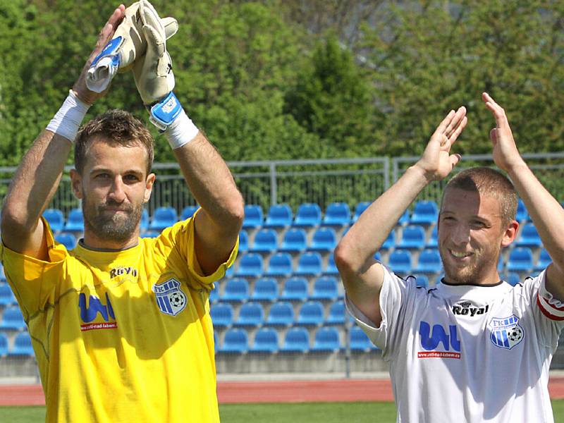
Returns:
[[[487,92],[482,93],[482,100],[484,100],[486,107],[496,118],[496,128],[492,128],[489,131],[491,144],[494,147],[494,162],[498,168],[508,172],[513,166],[522,164],[523,159],[519,154],[519,150],[517,150],[517,145],[515,145],[513,133],[511,132],[507,116],[505,116],[505,110]]]

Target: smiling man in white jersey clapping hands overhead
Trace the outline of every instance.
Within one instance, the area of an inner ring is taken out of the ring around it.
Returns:
[[[464,107],[450,111],[421,159],[335,252],[348,310],[389,362],[398,422],[553,422],[548,369],[564,321],[564,211],[517,151],[505,111],[482,99],[496,119],[494,161],[515,188],[488,168],[449,181],[438,222],[442,283],[417,288],[372,257],[419,192],[460,160],[450,148],[467,123]],[[497,264],[519,226],[517,193],[553,263],[513,287]]]

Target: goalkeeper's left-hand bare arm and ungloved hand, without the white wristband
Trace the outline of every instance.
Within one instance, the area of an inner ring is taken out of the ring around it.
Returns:
[[[102,51],[114,34],[123,15],[124,6],[116,8],[102,31],[73,90],[86,104],[92,104],[102,94],[87,90],[85,73],[92,59]],[[43,224],[39,217],[51,201],[61,180],[72,140],[43,130],[23,157],[4,200],[1,233],[4,244],[38,259],[47,259]]]

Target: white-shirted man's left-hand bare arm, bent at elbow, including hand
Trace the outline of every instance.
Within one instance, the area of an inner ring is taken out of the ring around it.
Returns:
[[[466,109],[450,111],[431,136],[423,156],[360,216],[335,250],[335,262],[348,298],[376,326],[381,323],[380,290],[384,280],[381,264],[373,257],[405,209],[432,180],[450,173],[460,160],[450,147],[464,129]]]

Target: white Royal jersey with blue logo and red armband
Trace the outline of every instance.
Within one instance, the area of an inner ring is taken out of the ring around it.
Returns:
[[[398,422],[554,421],[548,369],[564,303],[544,271],[515,287],[417,288],[383,267],[381,325],[347,307],[390,364]]]

